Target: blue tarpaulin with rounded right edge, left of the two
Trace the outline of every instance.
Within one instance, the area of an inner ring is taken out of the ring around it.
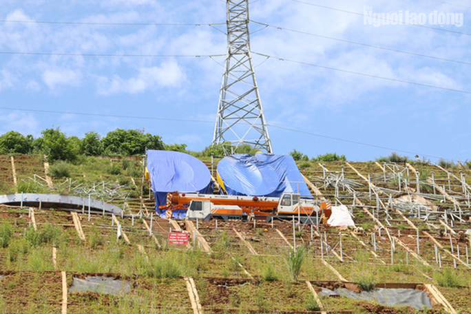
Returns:
[[[178,151],[147,150],[147,171],[156,198],[156,213],[165,218],[158,208],[167,202],[167,193],[208,193],[211,174],[201,160]],[[185,216],[186,211],[174,211],[175,218]]]

